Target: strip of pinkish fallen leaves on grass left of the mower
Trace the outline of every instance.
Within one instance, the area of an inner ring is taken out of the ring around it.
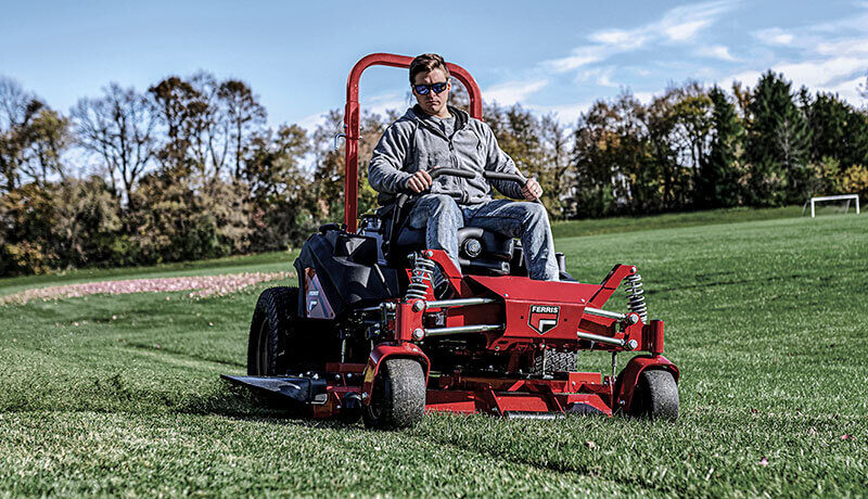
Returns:
[[[190,278],[129,279],[125,281],[86,282],[62,286],[36,287],[8,296],[0,296],[0,305],[24,304],[34,299],[43,302],[58,298],[75,298],[93,294],[123,295],[129,293],[164,293],[193,290],[189,296],[224,296],[248,285],[266,281],[289,279],[293,272],[253,272],[225,276],[197,276]]]

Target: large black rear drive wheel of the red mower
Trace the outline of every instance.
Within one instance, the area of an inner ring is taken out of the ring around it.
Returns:
[[[298,317],[297,287],[269,287],[256,302],[247,343],[247,374],[280,376],[324,369],[331,324]],[[323,325],[326,325],[323,328]]]

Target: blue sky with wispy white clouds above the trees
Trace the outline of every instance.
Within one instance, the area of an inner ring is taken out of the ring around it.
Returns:
[[[347,74],[371,52],[439,52],[484,99],[572,124],[597,99],[642,101],[688,78],[748,86],[768,69],[866,104],[866,1],[293,2],[11,1],[0,75],[67,112],[110,81],[140,91],[199,69],[245,80],[269,123],[310,127],[343,107]],[[378,67],[363,107],[404,108],[406,73]]]

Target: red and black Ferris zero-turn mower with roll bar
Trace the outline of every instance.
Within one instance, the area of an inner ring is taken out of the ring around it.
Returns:
[[[460,264],[424,247],[404,223],[412,200],[362,217],[356,228],[361,73],[409,67],[411,57],[371,54],[349,74],[345,220],[320,227],[295,260],[299,287],[263,292],[251,324],[247,376],[224,378],[284,400],[314,418],[397,428],[425,411],[507,418],[622,412],[678,415],[678,368],[663,357],[663,321],[647,318],[635,266],[616,265],[600,284],[528,279],[521,244],[480,228],[459,231]],[[482,117],[480,89],[448,64]],[[438,168],[472,177],[468,170]],[[494,177],[498,175],[497,177]],[[520,177],[493,178],[523,181]],[[618,285],[627,312],[604,310]],[[578,350],[612,355],[610,375],[575,372]],[[616,373],[620,351],[644,350]]]

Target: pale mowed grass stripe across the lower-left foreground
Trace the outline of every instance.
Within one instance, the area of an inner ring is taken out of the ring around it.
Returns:
[[[599,478],[490,459],[411,434],[372,435],[329,423],[101,413],[25,413],[4,415],[3,422],[0,435],[17,446],[0,465],[20,470],[25,479],[10,491],[24,495],[237,497],[292,490],[317,497],[473,497],[496,490],[496,496],[564,497],[624,491]],[[17,438],[8,435],[10,426],[46,436]],[[43,473],[48,470],[52,475]]]

